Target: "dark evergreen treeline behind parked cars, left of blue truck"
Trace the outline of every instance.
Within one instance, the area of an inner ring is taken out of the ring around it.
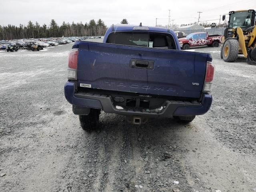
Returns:
[[[20,24],[20,26],[0,25],[0,40],[10,39],[28,39],[28,38],[48,38],[61,36],[103,36],[107,28],[104,22],[99,19],[97,22],[92,19],[89,23],[66,23],[63,22],[58,26],[54,19],[51,20],[50,25],[43,24],[40,26],[38,22],[35,24],[31,21],[27,26]]]

